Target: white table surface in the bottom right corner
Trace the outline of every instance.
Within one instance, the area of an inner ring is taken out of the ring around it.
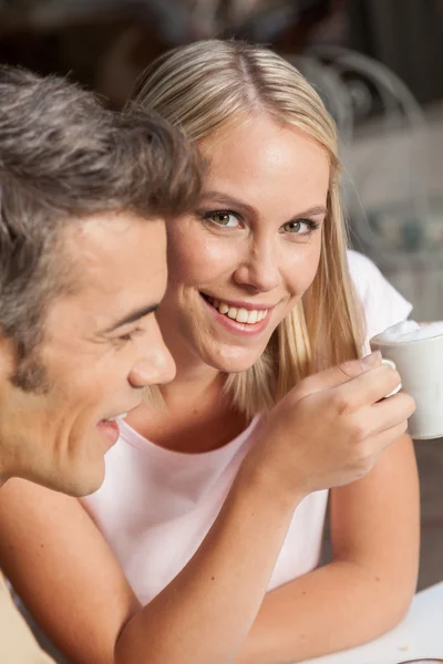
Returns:
[[[309,664],[399,664],[418,657],[443,660],[443,582],[419,592],[403,622],[381,639]]]

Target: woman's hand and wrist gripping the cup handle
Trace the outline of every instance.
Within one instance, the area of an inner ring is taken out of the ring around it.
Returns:
[[[380,353],[309,376],[261,423],[244,465],[277,490],[300,498],[369,473],[408,427],[415,409]]]

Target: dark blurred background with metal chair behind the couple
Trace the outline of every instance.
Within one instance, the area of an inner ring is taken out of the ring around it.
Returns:
[[[68,74],[115,108],[153,58],[212,37],[269,44],[316,85],[354,247],[413,318],[443,320],[443,0],[0,0],[1,62]],[[415,447],[425,588],[443,580],[443,440]]]

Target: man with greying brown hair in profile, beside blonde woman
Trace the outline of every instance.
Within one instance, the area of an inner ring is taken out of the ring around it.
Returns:
[[[199,186],[198,157],[159,118],[0,68],[0,484],[94,491],[119,416],[174,376],[154,315],[164,219]],[[0,662],[48,661],[1,584]]]

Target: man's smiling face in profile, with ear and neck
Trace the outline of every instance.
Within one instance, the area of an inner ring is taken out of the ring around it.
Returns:
[[[13,385],[13,346],[0,341],[0,471],[81,496],[103,480],[113,418],[175,365],[154,315],[167,279],[163,221],[99,215],[65,234],[75,284],[50,304],[29,359],[40,390]]]

